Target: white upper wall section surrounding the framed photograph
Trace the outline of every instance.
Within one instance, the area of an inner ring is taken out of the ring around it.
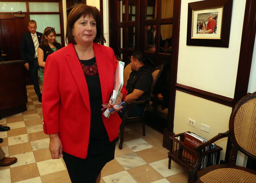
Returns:
[[[177,83],[233,98],[246,0],[233,1],[229,48],[186,45],[189,2],[181,4]]]

